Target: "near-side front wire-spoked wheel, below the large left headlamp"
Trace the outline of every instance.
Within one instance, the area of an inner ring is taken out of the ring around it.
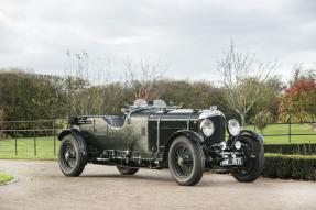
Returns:
[[[178,185],[196,185],[205,167],[201,146],[185,136],[175,139],[168,152],[168,167]]]

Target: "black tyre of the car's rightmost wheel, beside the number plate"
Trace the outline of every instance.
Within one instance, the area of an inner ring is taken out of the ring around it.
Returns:
[[[249,136],[240,136],[242,151],[244,153],[243,165],[233,170],[232,176],[241,183],[254,181],[262,173],[264,165],[264,147],[263,143],[258,143]],[[258,150],[259,146],[259,150]],[[252,152],[258,151],[258,152]]]

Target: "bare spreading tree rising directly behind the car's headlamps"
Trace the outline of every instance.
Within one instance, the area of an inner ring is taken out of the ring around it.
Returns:
[[[242,125],[248,112],[264,96],[262,84],[277,66],[277,63],[257,62],[255,54],[238,53],[232,42],[229,52],[218,62],[217,70],[226,89],[225,98],[239,114]]]

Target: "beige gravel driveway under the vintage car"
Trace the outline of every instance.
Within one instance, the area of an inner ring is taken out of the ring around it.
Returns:
[[[182,187],[167,170],[122,176],[115,167],[88,165],[80,177],[65,177],[57,162],[4,159],[0,169],[19,178],[0,186],[0,210],[316,209],[312,181],[241,184],[228,175],[205,175],[198,185]]]

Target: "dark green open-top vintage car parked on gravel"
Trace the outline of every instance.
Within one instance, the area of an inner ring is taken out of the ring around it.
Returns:
[[[216,107],[182,109],[138,99],[122,112],[69,118],[58,135],[64,175],[79,176],[86,164],[116,166],[122,175],[168,168],[179,185],[192,186],[206,169],[228,170],[243,183],[262,172],[263,137],[227,121]]]

